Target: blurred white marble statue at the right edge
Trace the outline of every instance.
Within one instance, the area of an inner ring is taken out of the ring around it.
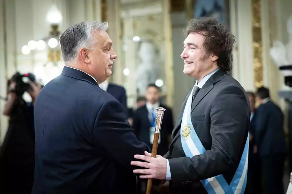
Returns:
[[[292,15],[287,21],[287,32],[288,43],[284,45],[281,41],[275,40],[270,49],[270,55],[278,66],[292,65]]]

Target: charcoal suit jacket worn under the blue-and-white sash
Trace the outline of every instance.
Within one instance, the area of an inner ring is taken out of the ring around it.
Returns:
[[[176,125],[168,159],[171,193],[207,193],[200,180],[222,174],[230,184],[248,137],[250,104],[242,86],[222,70],[215,72],[192,102],[191,120],[206,152],[186,157],[180,140],[183,111]]]

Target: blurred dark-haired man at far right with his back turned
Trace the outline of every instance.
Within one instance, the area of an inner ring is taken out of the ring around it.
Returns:
[[[268,88],[258,88],[254,138],[260,157],[265,193],[284,193],[283,167],[287,153],[283,129],[284,116],[281,109],[270,99]]]

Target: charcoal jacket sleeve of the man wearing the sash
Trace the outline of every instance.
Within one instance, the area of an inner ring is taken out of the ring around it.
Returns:
[[[168,159],[172,181],[199,181],[234,167],[247,138],[249,114],[249,105],[241,88],[225,86],[211,105],[211,150],[192,158]]]

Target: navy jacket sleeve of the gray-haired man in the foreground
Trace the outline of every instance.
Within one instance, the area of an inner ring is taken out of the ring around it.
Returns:
[[[138,141],[134,130],[126,121],[121,104],[114,100],[105,102],[98,112],[93,142],[96,147],[101,147],[108,157],[132,170],[137,168],[131,165],[131,161],[136,160],[135,154],[144,155],[144,151],[151,152],[146,144]]]

